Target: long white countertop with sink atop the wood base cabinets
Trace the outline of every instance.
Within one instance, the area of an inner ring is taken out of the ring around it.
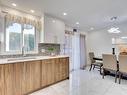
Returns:
[[[29,56],[29,57],[18,57],[18,58],[6,58],[6,59],[0,59],[0,64],[20,63],[26,61],[36,61],[36,60],[64,58],[64,57],[69,57],[69,56],[57,55],[57,56]]]

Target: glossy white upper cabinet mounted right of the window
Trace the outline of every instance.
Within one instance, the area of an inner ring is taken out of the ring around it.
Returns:
[[[55,22],[53,22],[53,20]],[[44,42],[45,43],[64,43],[65,24],[63,21],[44,16]]]

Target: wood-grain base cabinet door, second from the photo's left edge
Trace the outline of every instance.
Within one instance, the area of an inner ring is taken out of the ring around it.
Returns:
[[[24,64],[12,63],[5,68],[5,95],[23,95]]]

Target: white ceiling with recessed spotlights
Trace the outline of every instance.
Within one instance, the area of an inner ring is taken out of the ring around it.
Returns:
[[[77,27],[84,31],[102,29],[112,23],[124,23],[127,21],[127,0],[1,0],[2,4],[12,7],[17,4],[17,9],[23,11],[35,10],[37,15],[43,12],[60,18],[66,25]],[[63,16],[66,12],[68,15]],[[115,22],[111,17],[117,16]]]

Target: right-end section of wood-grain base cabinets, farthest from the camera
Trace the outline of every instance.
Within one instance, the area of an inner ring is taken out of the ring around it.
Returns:
[[[56,58],[42,61],[41,86],[45,87],[69,77],[68,58]],[[68,66],[67,66],[68,65]]]

